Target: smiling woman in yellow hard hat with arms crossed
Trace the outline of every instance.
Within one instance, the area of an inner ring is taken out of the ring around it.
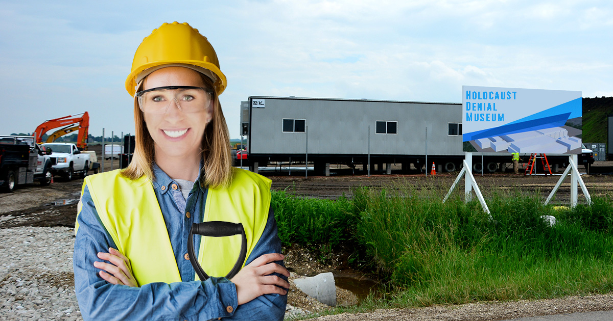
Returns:
[[[186,23],[162,24],[134,56],[132,163],[89,176],[75,226],[75,290],[83,319],[281,320],[287,276],[270,211],[270,180],[232,168],[218,95],[226,87],[207,39]],[[241,223],[242,270],[227,279],[240,235],[194,238],[192,223]]]

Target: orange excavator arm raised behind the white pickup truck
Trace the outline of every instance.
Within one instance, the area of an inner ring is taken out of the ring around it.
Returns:
[[[73,126],[74,124],[78,125]],[[36,127],[36,131],[34,131],[34,138],[36,138],[36,142],[39,144],[42,143],[42,135],[45,135],[48,130],[61,126],[65,127],[56,130],[53,134],[49,135],[47,142],[53,142],[59,137],[72,133],[72,131],[75,131],[78,128],[77,147],[83,150],[87,149],[87,131],[89,128],[89,114],[87,112],[76,114],[75,116],[70,115],[45,121],[44,123],[40,124],[39,127]]]

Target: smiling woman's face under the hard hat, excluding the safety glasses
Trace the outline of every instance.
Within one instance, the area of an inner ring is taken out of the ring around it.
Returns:
[[[204,87],[199,72],[184,67],[166,67],[145,78],[143,90],[164,86]],[[172,90],[178,92],[180,90]],[[173,94],[170,92],[170,94]],[[170,100],[166,113],[143,111],[147,130],[155,142],[155,155],[159,157],[191,158],[200,154],[202,136],[213,117],[213,101],[208,96],[208,106],[196,113],[183,113],[176,100]]]

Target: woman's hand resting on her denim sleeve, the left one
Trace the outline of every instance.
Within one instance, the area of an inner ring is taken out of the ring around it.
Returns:
[[[111,284],[124,284],[126,286],[138,287],[138,283],[132,276],[132,265],[130,260],[114,248],[109,248],[109,253],[99,252],[98,258],[107,260],[112,264],[105,262],[94,262],[94,267],[100,271],[100,277]]]

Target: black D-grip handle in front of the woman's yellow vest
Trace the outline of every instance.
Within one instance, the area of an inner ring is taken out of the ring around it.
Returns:
[[[240,245],[240,254],[238,254],[238,260],[234,264],[232,271],[230,271],[230,273],[226,275],[226,278],[231,279],[236,275],[236,273],[238,273],[238,271],[240,271],[247,255],[247,236],[245,235],[245,229],[243,229],[243,224],[223,221],[210,221],[192,224],[192,227],[189,230],[188,239],[189,262],[191,262],[192,267],[194,267],[194,270],[200,278],[200,281],[205,281],[209,278],[209,276],[207,275],[207,273],[205,273],[204,270],[202,270],[202,267],[200,267],[200,264],[196,259],[196,254],[194,253],[194,234],[209,237],[226,237],[241,234],[243,242]]]

